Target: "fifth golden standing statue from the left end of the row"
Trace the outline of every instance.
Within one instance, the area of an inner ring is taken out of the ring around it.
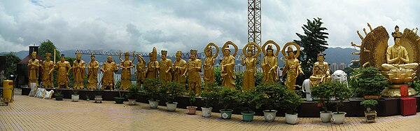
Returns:
[[[95,60],[94,54],[90,55],[90,62],[87,64],[87,90],[98,88],[99,62]]]

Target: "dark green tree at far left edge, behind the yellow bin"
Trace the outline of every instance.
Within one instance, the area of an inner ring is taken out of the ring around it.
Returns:
[[[20,58],[13,53],[8,53],[6,56],[6,79],[12,79],[10,75],[16,76],[18,73],[16,72],[16,68],[18,67],[18,62],[20,62]]]

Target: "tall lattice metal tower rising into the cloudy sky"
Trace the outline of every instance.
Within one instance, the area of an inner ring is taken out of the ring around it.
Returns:
[[[254,42],[262,46],[261,45],[261,0],[248,0],[248,42]],[[261,59],[262,59],[262,55],[261,55]]]

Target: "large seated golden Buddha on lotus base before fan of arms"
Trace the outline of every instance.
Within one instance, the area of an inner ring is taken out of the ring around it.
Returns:
[[[407,49],[401,46],[402,33],[398,26],[392,33],[394,45],[386,48],[386,63],[381,64],[382,74],[391,83],[407,83],[413,81],[418,63],[410,63]]]

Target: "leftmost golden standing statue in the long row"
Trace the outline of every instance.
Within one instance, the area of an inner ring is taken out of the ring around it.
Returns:
[[[38,77],[39,77],[39,60],[36,59],[36,52],[31,53],[32,57],[31,60],[28,62],[28,78],[29,78],[29,85],[31,83],[36,83],[36,86],[38,86]]]

